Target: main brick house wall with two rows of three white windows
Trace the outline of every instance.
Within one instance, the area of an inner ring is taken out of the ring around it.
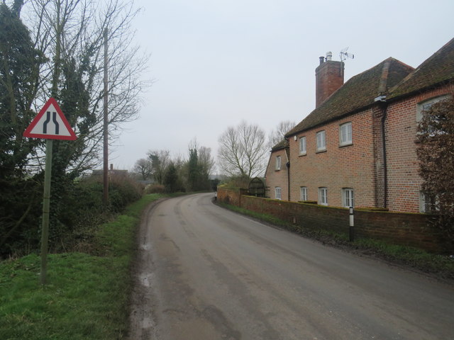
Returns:
[[[300,187],[308,188],[309,200],[318,200],[319,187],[328,188],[328,205],[342,206],[342,188],[353,188],[355,207],[377,206],[375,183],[375,115],[372,110],[307,130],[290,144],[290,200],[300,200]],[[352,123],[353,145],[339,146],[339,126]],[[316,132],[325,130],[326,152],[316,152]],[[299,156],[299,138],[306,136],[306,155]]]

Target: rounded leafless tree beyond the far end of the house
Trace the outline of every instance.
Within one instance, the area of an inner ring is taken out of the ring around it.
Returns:
[[[265,132],[245,121],[229,127],[218,139],[218,165],[229,176],[252,178],[263,174],[268,152]]]

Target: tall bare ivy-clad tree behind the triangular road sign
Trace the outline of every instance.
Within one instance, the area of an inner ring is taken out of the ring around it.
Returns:
[[[78,139],[68,154],[65,168],[84,171],[99,164],[102,148],[102,98],[104,30],[109,40],[109,140],[114,142],[121,125],[138,115],[140,94],[149,85],[140,75],[147,56],[132,45],[131,22],[138,10],[133,1],[35,0],[27,1],[29,28],[35,48],[48,60],[40,69],[35,110],[54,96],[62,101]],[[72,91],[72,93],[69,93]],[[77,151],[74,153],[74,151]],[[36,152],[40,165],[43,152]]]

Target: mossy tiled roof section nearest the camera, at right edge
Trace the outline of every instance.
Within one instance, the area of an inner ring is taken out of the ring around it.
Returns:
[[[411,94],[452,79],[454,79],[454,38],[397,84],[387,99]]]

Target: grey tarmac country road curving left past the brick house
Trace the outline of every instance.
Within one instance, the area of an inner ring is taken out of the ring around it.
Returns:
[[[140,228],[131,340],[454,339],[454,289],[211,203],[171,198]]]

